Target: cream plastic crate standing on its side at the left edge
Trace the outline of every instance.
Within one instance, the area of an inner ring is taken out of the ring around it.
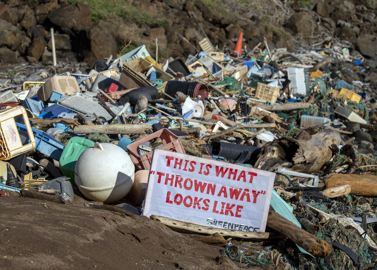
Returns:
[[[26,142],[17,132],[17,123],[14,118],[19,116],[26,123],[24,134],[24,137],[28,138]],[[25,108],[17,106],[0,110],[0,160],[8,160],[34,149],[35,139]]]

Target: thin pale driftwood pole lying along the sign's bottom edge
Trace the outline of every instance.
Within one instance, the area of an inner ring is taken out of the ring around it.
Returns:
[[[215,227],[194,224],[190,222],[179,221],[168,217],[160,217],[158,215],[151,215],[150,218],[158,220],[162,224],[165,224],[166,226],[174,230],[178,229],[179,231],[195,232],[198,234],[218,234],[221,236],[237,237],[250,240],[267,240],[273,238],[282,238],[280,234],[271,232],[244,232],[232,229],[220,229]]]

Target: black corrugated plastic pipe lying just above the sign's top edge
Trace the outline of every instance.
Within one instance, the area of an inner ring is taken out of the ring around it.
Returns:
[[[256,158],[261,153],[261,147],[247,146],[236,143],[225,143],[220,141],[213,141],[208,145],[208,153],[211,155],[224,156],[227,159],[237,161],[237,159],[246,152],[247,156],[244,161]]]

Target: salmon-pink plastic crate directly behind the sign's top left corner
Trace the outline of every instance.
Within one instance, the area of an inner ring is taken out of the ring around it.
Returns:
[[[139,165],[143,170],[149,170],[150,161],[152,159],[153,152],[146,153],[144,155],[139,156],[137,149],[140,144],[146,143],[154,138],[160,138],[162,140],[162,146],[158,147],[161,150],[167,150],[176,153],[185,154],[185,150],[183,149],[183,145],[181,140],[174,135],[169,129],[161,129],[157,132],[154,132],[147,137],[144,137],[135,143],[131,143],[127,145],[128,152],[130,154],[131,160],[134,164]]]

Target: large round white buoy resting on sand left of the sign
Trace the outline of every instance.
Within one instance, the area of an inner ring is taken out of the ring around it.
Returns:
[[[89,200],[112,203],[130,191],[135,166],[127,153],[111,143],[95,143],[84,150],[75,166],[75,182]]]

